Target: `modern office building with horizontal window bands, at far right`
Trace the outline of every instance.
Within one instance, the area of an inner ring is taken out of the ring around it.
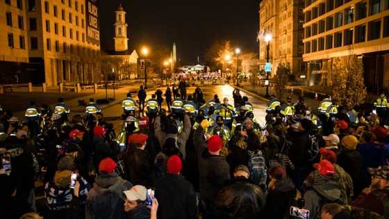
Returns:
[[[334,64],[363,62],[367,90],[389,88],[389,0],[306,0],[304,62],[311,85],[331,86]]]

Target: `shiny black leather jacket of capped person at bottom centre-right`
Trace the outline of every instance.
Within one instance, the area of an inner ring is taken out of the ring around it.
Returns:
[[[238,177],[217,193],[215,204],[216,218],[254,219],[265,206],[265,195],[258,185]]]

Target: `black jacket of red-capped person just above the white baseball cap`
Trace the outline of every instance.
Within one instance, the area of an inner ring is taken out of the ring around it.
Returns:
[[[134,185],[151,186],[153,161],[145,150],[133,148],[124,157],[127,179]]]

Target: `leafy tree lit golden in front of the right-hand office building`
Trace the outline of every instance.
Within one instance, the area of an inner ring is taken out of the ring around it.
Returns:
[[[332,86],[333,99],[349,110],[363,104],[367,91],[363,81],[362,60],[356,56],[338,58],[333,64],[333,72],[336,74]]]

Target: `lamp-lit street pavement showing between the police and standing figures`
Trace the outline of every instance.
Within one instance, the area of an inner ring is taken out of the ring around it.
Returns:
[[[159,88],[163,92],[165,92],[166,87]],[[230,104],[233,105],[233,87],[229,85],[222,85],[222,86],[203,86],[201,87],[201,90],[203,90],[204,93],[204,99],[206,102],[209,102],[211,99],[213,99],[214,95],[218,95],[220,102],[223,101],[224,97],[229,98]],[[151,95],[155,92],[155,90],[150,90],[147,92],[147,99],[151,98]],[[188,88],[188,95],[192,95],[195,92],[195,87]],[[243,96],[249,97],[249,102],[253,104],[254,106],[254,115],[256,117],[257,122],[261,125],[265,125],[265,109],[266,109],[266,102],[264,102],[262,99],[258,99],[254,95],[247,94],[245,92],[240,92],[240,94]],[[138,99],[136,95],[133,95],[134,99]],[[166,102],[163,103],[164,108],[167,108]],[[122,127],[122,104],[118,103],[113,106],[109,106],[108,108],[105,108],[103,110],[104,117],[108,122],[112,122],[114,129],[116,132],[119,131],[119,129]]]

